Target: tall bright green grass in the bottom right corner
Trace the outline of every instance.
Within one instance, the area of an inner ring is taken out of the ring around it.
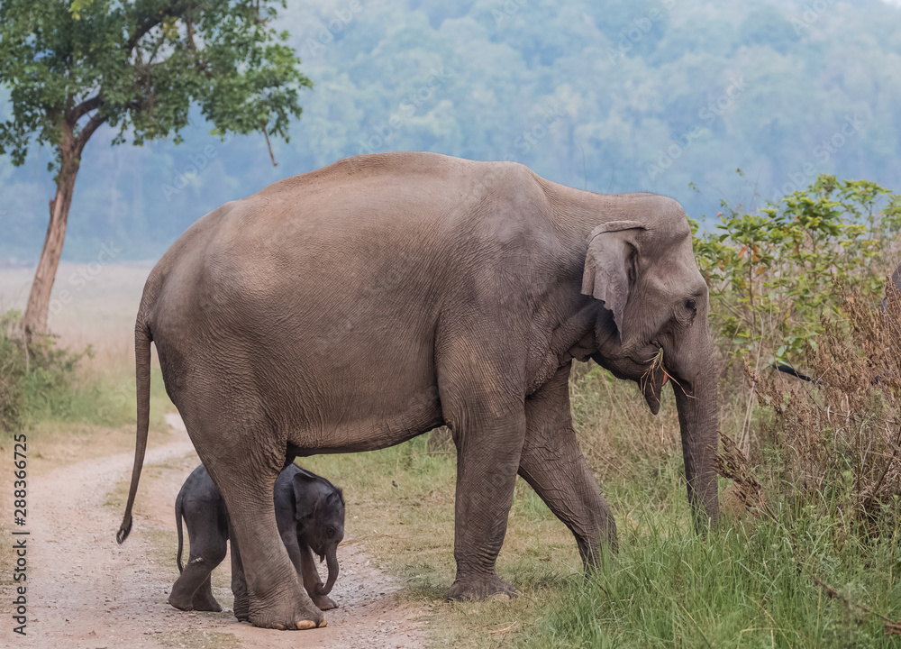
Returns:
[[[812,568],[857,601],[887,612],[901,591],[888,557],[869,558],[811,539]],[[821,572],[822,573],[822,572]],[[587,580],[574,578],[519,638],[528,647],[897,646],[800,571],[781,526],[726,529],[706,538],[685,526],[640,527]]]

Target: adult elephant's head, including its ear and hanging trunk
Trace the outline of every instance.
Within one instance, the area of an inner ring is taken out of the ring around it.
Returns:
[[[676,395],[688,499],[696,524],[716,520],[713,462],[717,399],[707,286],[692,253],[691,229],[675,200],[619,197],[628,220],[589,235],[582,293],[603,302],[590,356],[620,379],[639,384],[656,415],[670,380]]]

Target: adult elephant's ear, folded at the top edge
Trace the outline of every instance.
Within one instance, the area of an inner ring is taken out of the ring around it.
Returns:
[[[598,225],[588,235],[582,295],[602,300],[614,314],[614,323],[623,340],[623,310],[629,299],[633,274],[633,252],[637,250],[636,234],[646,230],[638,221],[611,221]]]

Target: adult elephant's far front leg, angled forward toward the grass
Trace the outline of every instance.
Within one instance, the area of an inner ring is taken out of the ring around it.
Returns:
[[[602,543],[616,551],[616,524],[572,428],[569,366],[526,399],[525,414],[519,473],[569,527],[585,566],[594,566]]]

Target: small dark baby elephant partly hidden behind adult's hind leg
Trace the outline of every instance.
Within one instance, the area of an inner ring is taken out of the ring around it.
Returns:
[[[276,480],[274,504],[278,535],[303,581],[307,594],[317,608],[328,610],[338,605],[328,597],[338,579],[338,544],[344,538],[344,498],[341,489],[324,478],[289,464]],[[182,567],[184,516],[190,555]],[[210,574],[225,558],[229,539],[229,518],[225,501],[210,474],[201,464],[185,480],[175,501],[178,528],[178,571],[181,573],[169,593],[169,604],[181,610],[221,611],[213,597]],[[327,560],[329,577],[323,586],[316,571],[313,554]],[[241,554],[232,541],[232,591],[234,613],[247,619],[249,602],[241,566]]]

